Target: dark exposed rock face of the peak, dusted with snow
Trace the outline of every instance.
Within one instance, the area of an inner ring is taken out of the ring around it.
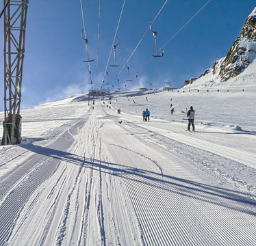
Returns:
[[[236,77],[251,64],[256,57],[256,8],[246,19],[240,36],[235,40],[227,56],[214,62],[213,68],[207,69],[201,77],[212,72],[212,75],[221,81]],[[185,85],[196,79],[185,81]]]

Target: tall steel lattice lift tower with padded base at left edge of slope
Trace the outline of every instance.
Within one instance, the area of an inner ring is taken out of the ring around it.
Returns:
[[[2,145],[21,143],[21,83],[29,0],[4,0],[4,120]]]

